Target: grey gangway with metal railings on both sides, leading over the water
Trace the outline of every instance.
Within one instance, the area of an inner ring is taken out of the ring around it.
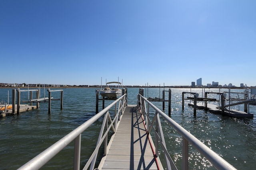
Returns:
[[[164,133],[161,127],[160,117],[173,127],[182,136],[182,169],[189,169],[188,152],[192,145],[200,154],[218,170],[235,170],[221,156],[216,154],[196,137],[186,131],[178,123],[168,117],[160,109],[154,106],[141,94],[138,94],[136,106],[127,105],[127,94],[123,94],[105,109],[94,115],[88,121],[80,125],[74,131],[54,143],[32,160],[24,164],[19,170],[36,170],[51,160],[58,152],[74,141],[74,170],[94,169],[165,169],[176,170],[176,165],[168,154]],[[114,107],[114,117],[111,111]],[[149,111],[154,110],[154,116],[149,116]],[[90,125],[104,117],[98,136],[96,148],[88,158],[83,168],[80,168],[81,134]],[[111,131],[111,130],[112,131]],[[108,140],[108,134],[114,135]],[[124,135],[126,134],[126,135]],[[154,140],[151,135],[154,135]],[[104,155],[99,165],[96,165],[101,145],[104,145]],[[161,147],[161,150],[159,148]],[[164,160],[159,159],[158,152],[164,152]]]

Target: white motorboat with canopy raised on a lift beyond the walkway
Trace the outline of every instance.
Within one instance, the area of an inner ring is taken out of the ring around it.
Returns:
[[[110,88],[108,84],[118,84],[118,88]],[[120,82],[108,82],[106,83],[106,87],[100,90],[100,95],[104,98],[108,99],[116,99],[122,95],[122,90],[120,89]]]

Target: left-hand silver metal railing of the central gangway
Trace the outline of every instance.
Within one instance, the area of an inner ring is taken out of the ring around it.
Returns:
[[[116,105],[119,102],[118,110],[116,111]],[[115,117],[113,120],[111,120],[109,109],[111,109],[113,106],[115,106]],[[72,132],[70,132],[68,135],[54,143],[52,146],[50,146],[48,149],[44,150],[40,154],[38,154],[36,157],[34,157],[32,160],[18,168],[18,170],[36,170],[44,166],[49,160],[51,160],[58,152],[60,152],[62,149],[64,149],[70,142],[74,141],[74,170],[80,169],[80,149],[81,149],[81,134],[84,132],[90,125],[92,125],[95,121],[97,121],[100,117],[104,116],[103,124],[101,133],[98,137],[98,142],[96,149],[92,153],[92,156],[86,163],[86,166],[84,169],[87,169],[90,164],[90,169],[94,169],[96,156],[98,154],[98,150],[100,148],[100,145],[103,141],[105,141],[105,150],[107,147],[107,139],[108,139],[108,132],[112,128],[113,131],[116,129],[118,117],[122,113],[124,113],[124,109],[127,106],[127,96],[124,94],[117,100],[115,100],[112,104],[107,106],[105,109],[94,115],[92,118],[90,118],[88,121],[74,129]],[[108,120],[110,121],[110,125],[108,126]],[[105,133],[103,134],[104,128],[106,128]]]

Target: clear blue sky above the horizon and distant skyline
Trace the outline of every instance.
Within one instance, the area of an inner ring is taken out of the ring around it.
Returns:
[[[256,0],[0,0],[0,83],[256,86]]]

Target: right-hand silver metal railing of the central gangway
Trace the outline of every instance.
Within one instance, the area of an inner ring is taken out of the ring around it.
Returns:
[[[158,153],[158,143],[162,146],[164,150],[164,155],[166,158],[166,164],[168,169],[177,169],[175,164],[173,163],[170,155],[167,152],[166,144],[164,142],[164,134],[161,128],[161,121],[159,119],[159,115],[166,120],[181,136],[182,136],[182,169],[188,170],[188,146],[189,143],[195,147],[206,159],[209,160],[212,165],[218,170],[236,170],[231,164],[229,164],[226,160],[224,160],[221,156],[216,154],[213,150],[209,147],[204,145],[201,141],[199,141],[196,137],[194,137],[191,133],[186,131],[182,126],[168,117],[164,112],[158,109],[154,104],[149,102],[147,98],[138,94],[138,102],[140,104],[140,110],[142,111],[143,116],[145,117],[144,120],[146,121],[148,133],[150,131],[155,132],[156,141],[154,143],[156,151]],[[146,107],[147,103],[147,107]],[[149,106],[151,106],[155,110],[155,115],[152,121],[150,121],[149,117]],[[155,127],[153,126],[156,122]],[[160,131],[160,133],[158,133]],[[157,155],[156,155],[157,156]]]

